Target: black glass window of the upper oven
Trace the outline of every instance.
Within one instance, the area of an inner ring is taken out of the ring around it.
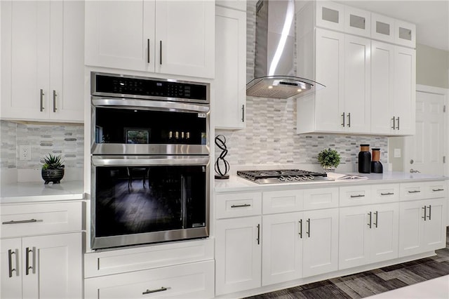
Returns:
[[[206,114],[95,108],[95,143],[203,145]]]

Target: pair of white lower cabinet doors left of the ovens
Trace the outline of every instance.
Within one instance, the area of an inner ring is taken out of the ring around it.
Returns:
[[[1,239],[1,298],[83,298],[81,232]]]

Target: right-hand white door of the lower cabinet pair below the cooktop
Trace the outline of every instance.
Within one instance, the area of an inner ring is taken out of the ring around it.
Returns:
[[[338,269],[338,208],[304,212],[303,277]]]

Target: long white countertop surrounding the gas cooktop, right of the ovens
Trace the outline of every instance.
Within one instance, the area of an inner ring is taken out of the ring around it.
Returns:
[[[385,173],[346,173],[350,175],[363,175],[368,180],[330,180],[316,182],[288,182],[283,184],[263,184],[259,185],[250,180],[239,178],[231,175],[227,180],[215,179],[215,192],[239,192],[239,191],[265,191],[265,190],[293,190],[297,188],[316,188],[319,186],[335,187],[342,185],[370,185],[382,183],[399,183],[413,181],[431,181],[431,180],[448,180],[448,177],[441,175],[425,175],[422,173],[402,173],[402,172],[385,172]]]

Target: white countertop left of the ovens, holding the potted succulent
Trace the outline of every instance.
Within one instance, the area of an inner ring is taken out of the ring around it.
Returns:
[[[81,180],[48,185],[43,182],[15,182],[2,185],[0,190],[1,204],[74,199],[84,199],[84,183]]]

